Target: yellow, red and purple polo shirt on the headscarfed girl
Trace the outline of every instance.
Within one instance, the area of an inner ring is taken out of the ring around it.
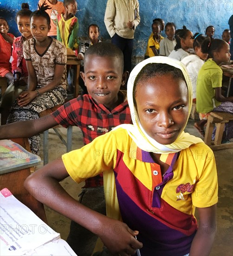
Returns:
[[[214,154],[198,143],[161,155],[160,160],[169,165],[164,175],[150,152],[137,148],[123,128],[63,155],[76,182],[100,172],[114,174],[115,188],[104,191],[106,205],[118,199],[123,222],[139,231],[142,256],[183,256],[197,230],[195,207],[209,207],[218,200]]]

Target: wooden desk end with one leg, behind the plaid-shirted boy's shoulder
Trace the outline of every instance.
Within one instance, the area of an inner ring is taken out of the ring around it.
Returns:
[[[80,73],[80,64],[81,61],[78,61],[77,56],[74,54],[74,52],[71,50],[71,48],[66,48],[67,50],[67,65],[73,65],[74,66],[74,97],[78,97],[78,91],[79,91],[79,73]]]

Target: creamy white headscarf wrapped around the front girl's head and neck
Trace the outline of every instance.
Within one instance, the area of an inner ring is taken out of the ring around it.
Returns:
[[[183,131],[184,130],[183,128],[183,130],[181,131],[180,135],[178,136],[175,142],[169,145],[162,145],[157,141],[155,141],[154,139],[152,139],[144,131],[139,121],[139,116],[137,114],[136,108],[134,106],[133,87],[134,87],[134,81],[137,74],[142,70],[142,67],[144,67],[149,63],[168,64],[170,66],[177,67],[182,71],[186,84],[188,86],[188,112],[190,113],[192,108],[193,89],[192,89],[192,82],[188,76],[188,71],[186,67],[180,61],[177,61],[168,57],[163,57],[163,56],[151,57],[137,64],[136,67],[132,70],[132,72],[129,75],[129,80],[127,84],[127,98],[129,102],[129,108],[130,108],[133,125],[122,124],[120,126],[117,126],[116,128],[121,127],[126,129],[129,136],[136,143],[137,147],[141,148],[144,151],[156,152],[157,154],[170,154],[170,153],[179,152],[182,149],[188,148],[192,144],[203,142],[200,138],[197,138],[193,135],[185,133]],[[187,122],[188,122],[188,116],[187,116]]]

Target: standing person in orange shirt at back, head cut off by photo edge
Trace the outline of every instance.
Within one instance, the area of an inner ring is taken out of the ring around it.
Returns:
[[[63,2],[58,0],[39,0],[38,6],[41,7],[42,4],[46,4],[48,7],[46,13],[48,13],[50,17],[50,26],[51,29],[48,32],[48,36],[51,36],[54,39],[57,39],[57,15],[65,13],[65,8]]]

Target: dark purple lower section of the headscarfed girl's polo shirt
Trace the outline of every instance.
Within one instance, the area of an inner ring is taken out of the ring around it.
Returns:
[[[129,228],[138,230],[138,240],[143,243],[141,255],[183,256],[189,253],[195,235],[186,236],[155,219],[152,213],[145,212],[123,191],[116,179],[117,197],[123,222]]]

